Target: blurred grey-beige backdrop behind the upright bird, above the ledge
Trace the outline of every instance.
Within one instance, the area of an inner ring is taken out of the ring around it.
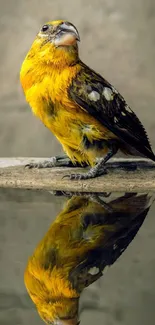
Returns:
[[[35,35],[55,19],[76,25],[81,59],[121,92],[155,148],[154,0],[0,0],[0,155],[48,157],[61,151],[32,115],[19,82]]]

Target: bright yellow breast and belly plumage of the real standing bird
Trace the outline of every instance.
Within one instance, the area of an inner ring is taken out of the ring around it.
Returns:
[[[54,22],[57,24],[61,21]],[[73,162],[93,165],[96,156],[102,156],[107,148],[86,152],[83,136],[90,142],[115,136],[69,98],[68,89],[81,70],[77,46],[66,51],[48,42],[43,44],[44,38],[38,34],[21,67],[20,80],[26,100]]]

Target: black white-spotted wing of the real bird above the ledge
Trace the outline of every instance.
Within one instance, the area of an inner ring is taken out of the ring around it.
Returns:
[[[100,75],[82,63],[69,96],[121,141],[155,160],[146,131],[123,97]]]

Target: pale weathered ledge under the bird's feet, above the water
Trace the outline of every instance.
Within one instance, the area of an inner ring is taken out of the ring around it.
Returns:
[[[0,187],[46,189],[73,192],[148,192],[155,191],[155,163],[147,159],[113,158],[104,176],[81,181],[62,179],[84,168],[28,169],[24,166],[45,158],[1,158]],[[124,168],[118,168],[121,164]]]

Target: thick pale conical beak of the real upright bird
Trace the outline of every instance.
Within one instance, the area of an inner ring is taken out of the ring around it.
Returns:
[[[80,36],[77,29],[71,25],[63,23],[58,27],[54,44],[56,46],[70,46],[80,41]]]

